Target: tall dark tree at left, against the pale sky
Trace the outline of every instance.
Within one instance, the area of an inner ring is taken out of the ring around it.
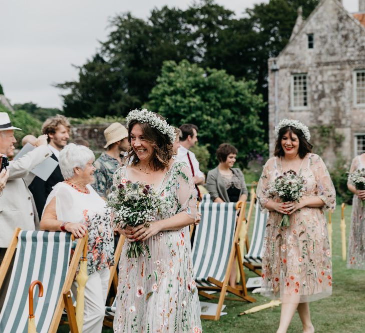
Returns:
[[[125,116],[148,99],[166,59],[194,56],[180,9],[154,9],[147,21],[130,13],[110,22],[111,32],[98,54],[79,68],[79,80],[58,84],[68,116]]]

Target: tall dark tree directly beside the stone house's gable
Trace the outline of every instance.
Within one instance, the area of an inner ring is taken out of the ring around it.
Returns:
[[[305,18],[318,2],[319,0],[270,0],[268,3],[258,3],[253,8],[246,9],[244,16],[239,19],[225,16],[224,23],[218,29],[210,27],[210,34],[205,31],[205,26],[209,25],[202,21],[201,27],[195,27],[196,33],[203,31],[200,33],[201,45],[206,48],[201,65],[225,69],[236,78],[257,81],[256,93],[262,94],[267,102],[268,58],[277,56],[288,43],[298,7],[302,6]],[[207,1],[201,6],[201,11],[208,11],[206,7],[211,6],[211,1]],[[195,10],[199,12],[199,6]],[[212,35],[214,38],[211,38]],[[267,129],[267,107],[260,116]]]

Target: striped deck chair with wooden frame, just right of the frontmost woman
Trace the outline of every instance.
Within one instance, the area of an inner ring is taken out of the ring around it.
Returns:
[[[244,221],[245,203],[212,203],[199,206],[201,222],[196,227],[195,242],[192,249],[194,273],[199,294],[208,299],[219,299],[215,316],[202,315],[202,319],[218,320],[226,292],[239,298],[226,298],[256,302],[247,295],[242,257],[238,244],[238,235]],[[237,211],[239,215],[237,218]],[[234,258],[238,261],[242,285],[236,288],[228,286],[229,275]],[[220,292],[220,296],[205,291]]]

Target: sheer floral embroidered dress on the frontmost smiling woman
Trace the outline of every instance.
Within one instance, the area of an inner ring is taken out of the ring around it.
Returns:
[[[126,167],[114,174],[114,184],[127,180]],[[186,163],[174,161],[155,189],[168,206],[156,220],[181,212],[195,219],[195,187]],[[144,243],[148,255],[139,258],[128,258],[124,244],[114,332],[201,332],[190,240],[184,230],[163,231]]]

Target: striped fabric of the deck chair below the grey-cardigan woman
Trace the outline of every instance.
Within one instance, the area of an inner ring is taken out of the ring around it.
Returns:
[[[213,286],[208,277],[223,281],[236,226],[236,203],[201,203],[192,259],[197,285]]]

